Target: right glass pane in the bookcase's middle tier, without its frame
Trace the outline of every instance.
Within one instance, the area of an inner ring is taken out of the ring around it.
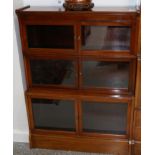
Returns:
[[[83,86],[128,88],[129,62],[83,62]]]

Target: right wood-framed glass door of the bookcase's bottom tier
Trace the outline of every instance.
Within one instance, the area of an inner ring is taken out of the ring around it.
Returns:
[[[83,135],[129,137],[131,101],[94,97],[94,99],[83,99],[80,107]]]

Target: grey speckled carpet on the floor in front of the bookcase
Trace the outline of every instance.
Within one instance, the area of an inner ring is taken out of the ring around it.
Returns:
[[[29,149],[27,143],[13,143],[13,155],[110,155],[101,153],[84,153],[46,149]]]

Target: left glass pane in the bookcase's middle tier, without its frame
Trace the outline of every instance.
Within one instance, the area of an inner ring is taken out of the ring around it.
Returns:
[[[70,60],[30,60],[33,84],[75,85],[74,62]]]

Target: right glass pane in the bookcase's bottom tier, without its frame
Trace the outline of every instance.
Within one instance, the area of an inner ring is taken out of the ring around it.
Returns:
[[[125,103],[83,102],[83,130],[126,134],[127,106]]]

